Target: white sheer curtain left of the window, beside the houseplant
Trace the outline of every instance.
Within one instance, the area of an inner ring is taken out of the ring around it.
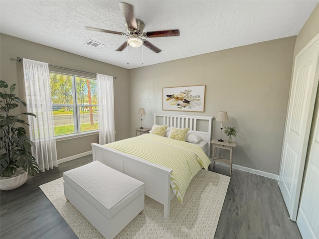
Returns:
[[[49,66],[47,63],[23,59],[23,72],[27,111],[36,115],[36,118],[28,116],[32,129],[30,138],[35,144],[32,155],[40,171],[44,172],[45,169],[58,166]]]

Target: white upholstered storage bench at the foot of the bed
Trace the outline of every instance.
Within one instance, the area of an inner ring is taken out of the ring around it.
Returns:
[[[144,209],[144,183],[94,161],[63,173],[64,195],[107,239]]]

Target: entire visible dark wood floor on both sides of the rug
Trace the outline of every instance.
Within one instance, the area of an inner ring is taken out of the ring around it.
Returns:
[[[29,176],[11,191],[0,191],[1,239],[77,239],[38,187],[92,161],[92,155]],[[213,171],[228,175],[229,168]],[[276,180],[233,169],[215,239],[301,239],[290,221]]]

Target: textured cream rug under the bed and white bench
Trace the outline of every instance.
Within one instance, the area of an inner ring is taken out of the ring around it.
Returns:
[[[201,169],[189,184],[181,204],[170,201],[170,218],[163,219],[163,205],[145,197],[145,210],[116,239],[213,239],[230,177]],[[63,178],[39,186],[79,239],[104,237],[70,203],[63,192]]]

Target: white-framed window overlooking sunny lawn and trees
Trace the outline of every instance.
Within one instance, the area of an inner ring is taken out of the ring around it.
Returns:
[[[50,72],[55,136],[98,129],[96,79]]]

